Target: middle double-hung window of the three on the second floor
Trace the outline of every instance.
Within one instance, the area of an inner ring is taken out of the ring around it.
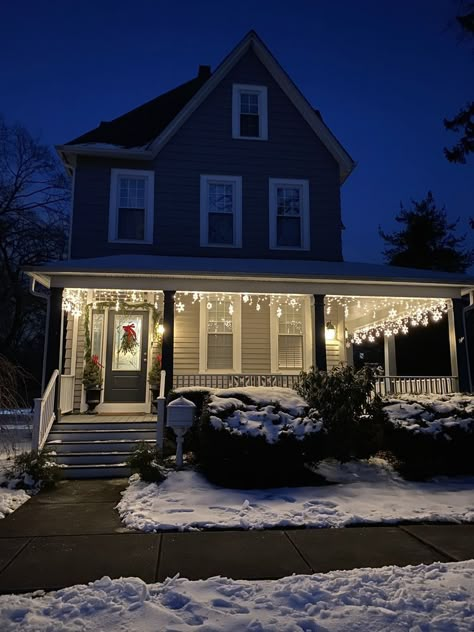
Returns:
[[[201,246],[242,246],[240,176],[201,176]]]

